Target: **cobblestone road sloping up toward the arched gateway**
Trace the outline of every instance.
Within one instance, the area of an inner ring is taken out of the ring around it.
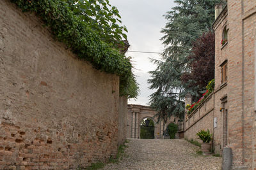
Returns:
[[[104,169],[221,169],[220,157],[198,155],[198,147],[184,139],[129,139],[126,145],[123,160]]]

